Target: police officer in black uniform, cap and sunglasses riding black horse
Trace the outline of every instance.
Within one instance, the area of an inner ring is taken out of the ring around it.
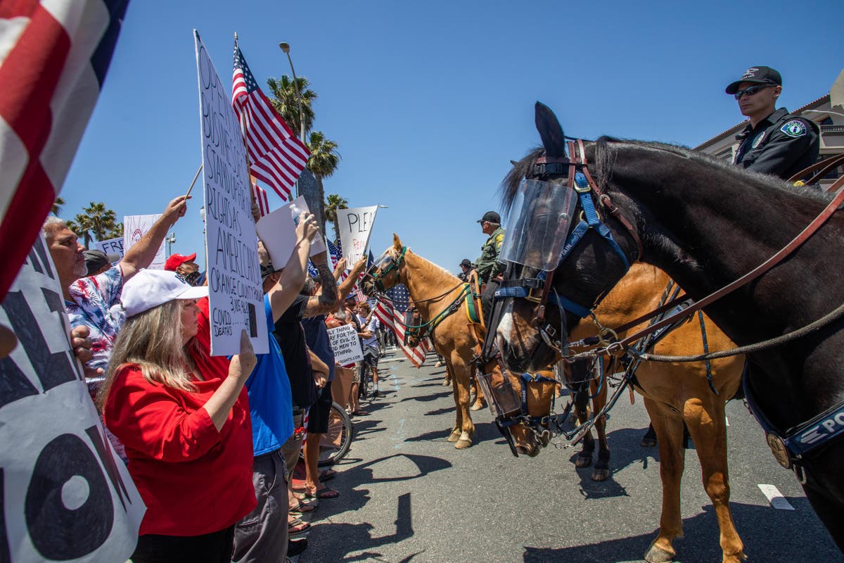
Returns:
[[[773,68],[756,66],[729,84],[726,92],[738,100],[738,109],[749,118],[736,138],[741,141],[733,164],[752,171],[790,178],[818,160],[820,136],[809,119],[776,109],[782,77]]]

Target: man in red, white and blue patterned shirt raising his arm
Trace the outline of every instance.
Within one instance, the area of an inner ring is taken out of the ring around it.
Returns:
[[[85,365],[89,379],[94,376],[96,380],[106,371],[111,347],[122,322],[111,308],[120,303],[123,284],[152,263],[167,231],[184,216],[188,198],[180,196],[171,201],[164,214],[127,250],[116,266],[91,277],[85,277],[88,271],[85,247],[79,244],[77,235],[61,219],[51,217],[44,224],[46,244],[62,284],[70,325],[87,327],[93,341],[93,357]]]

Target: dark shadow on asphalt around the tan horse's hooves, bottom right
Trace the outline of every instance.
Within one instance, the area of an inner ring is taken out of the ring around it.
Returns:
[[[744,553],[751,561],[841,561],[841,553],[830,541],[776,541],[782,533],[793,528],[793,520],[803,512],[810,511],[809,501],[802,497],[789,498],[789,502],[797,509],[796,512],[774,510],[770,506],[756,506],[730,503],[733,520],[738,533],[744,541]],[[753,530],[742,527],[742,522],[755,522]],[[600,526],[600,522],[594,522]],[[817,527],[821,528],[820,522]],[[674,540],[677,550],[677,560],[684,563],[720,561],[721,548],[718,545],[718,525],[715,511],[711,505],[704,506],[703,512],[694,517],[683,520],[684,538]],[[819,530],[825,533],[824,529]],[[525,563],[544,563],[545,561],[577,561],[577,563],[607,563],[612,561],[638,561],[645,555],[645,551],[657,536],[657,530],[652,533],[630,536],[629,538],[607,539],[598,544],[576,545],[562,549],[545,549],[525,547],[523,560]],[[827,536],[828,538],[828,536]],[[809,540],[810,541],[810,540]],[[811,551],[811,555],[807,553]]]

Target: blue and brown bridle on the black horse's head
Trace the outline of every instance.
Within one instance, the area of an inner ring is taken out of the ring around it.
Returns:
[[[556,263],[552,264],[551,268],[539,270],[533,278],[523,278],[516,280],[504,280],[501,283],[500,289],[495,291],[495,300],[503,300],[507,297],[521,297],[536,304],[533,316],[533,326],[537,328],[539,334],[542,336],[545,344],[550,348],[556,349],[560,352],[565,347],[566,327],[565,327],[565,312],[570,312],[578,318],[584,318],[594,315],[592,310],[598,306],[603,295],[599,295],[598,299],[591,304],[585,306],[577,303],[565,295],[557,293],[553,287],[554,273],[560,264],[565,259],[571,256],[571,252],[584,239],[584,235],[589,230],[600,235],[605,244],[615,252],[621,262],[625,266],[624,273],[630,269],[630,263],[642,257],[642,246],[639,234],[634,229],[630,220],[627,219],[619,208],[615,207],[609,194],[604,192],[598,183],[592,178],[589,171],[589,163],[586,156],[586,151],[583,147],[583,140],[568,139],[569,154],[572,159],[564,156],[553,157],[543,154],[538,156],[533,161],[532,176],[534,178],[547,178],[551,175],[565,174],[567,180],[565,185],[557,185],[559,189],[573,190],[577,195],[577,207],[580,208],[580,221],[572,229],[566,240],[565,245],[557,258]],[[596,206],[595,199],[598,200],[599,205]],[[615,241],[612,232],[602,219],[598,209],[603,208],[618,220],[621,225],[630,233],[630,237],[636,241],[637,254],[630,260],[625,251]],[[560,222],[568,218],[560,217]],[[624,275],[622,273],[622,275]],[[560,330],[545,322],[545,309],[548,302],[552,302],[560,310]]]

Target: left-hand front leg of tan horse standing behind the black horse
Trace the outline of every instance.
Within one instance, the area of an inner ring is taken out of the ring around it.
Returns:
[[[645,398],[647,414],[657,431],[659,447],[659,477],[663,481],[663,512],[659,518],[659,533],[645,554],[649,563],[664,563],[674,559],[676,551],[672,542],[683,536],[683,518],[680,517],[680,478],[683,476],[685,449],[683,447],[683,420],[679,415],[668,414],[650,398]]]

